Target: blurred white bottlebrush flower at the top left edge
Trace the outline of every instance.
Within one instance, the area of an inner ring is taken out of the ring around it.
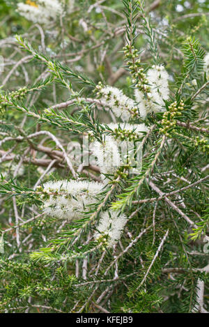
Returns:
[[[49,24],[63,15],[63,4],[58,0],[27,0],[17,3],[17,12],[33,23]]]

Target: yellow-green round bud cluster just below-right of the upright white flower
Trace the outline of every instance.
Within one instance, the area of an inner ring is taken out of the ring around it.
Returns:
[[[169,105],[169,111],[164,112],[163,114],[162,117],[163,128],[160,128],[160,132],[162,132],[166,136],[169,136],[168,130],[176,126],[176,118],[182,114],[184,106],[185,104],[183,100],[180,100],[179,105],[177,101],[174,101],[173,103],[171,103],[171,105]]]

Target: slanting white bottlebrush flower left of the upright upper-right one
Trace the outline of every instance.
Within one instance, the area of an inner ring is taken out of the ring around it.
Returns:
[[[131,112],[137,107],[134,100],[125,96],[123,91],[114,86],[98,86],[98,95],[112,110],[114,115],[122,121],[129,121]]]

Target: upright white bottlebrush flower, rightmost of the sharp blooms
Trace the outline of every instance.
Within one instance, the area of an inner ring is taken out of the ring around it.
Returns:
[[[144,118],[148,112],[164,112],[164,100],[169,98],[169,74],[164,66],[153,66],[147,72],[150,92],[148,98],[144,93],[135,90],[135,99],[140,115]]]

